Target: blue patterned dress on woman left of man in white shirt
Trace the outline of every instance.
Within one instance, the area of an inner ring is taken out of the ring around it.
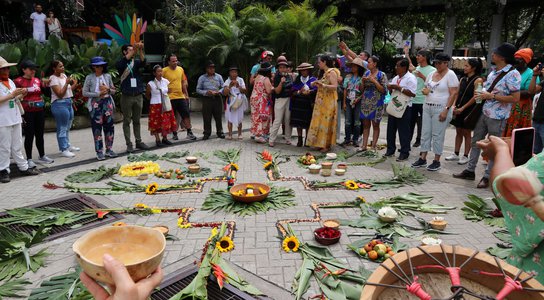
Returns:
[[[370,76],[370,71],[366,71],[365,77]],[[378,71],[378,82],[387,89],[387,76],[382,71]],[[386,93],[380,93],[378,88],[370,80],[365,80],[363,99],[361,100],[361,119],[379,122],[383,116],[383,104]]]

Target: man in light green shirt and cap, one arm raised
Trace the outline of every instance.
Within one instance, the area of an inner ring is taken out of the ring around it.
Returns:
[[[425,79],[431,73],[436,71],[435,67],[431,66],[432,53],[429,50],[419,50],[416,55],[416,61],[418,66],[412,64],[412,60],[409,55],[409,48],[404,47],[404,54],[410,62],[410,72],[417,78],[417,92],[416,96],[412,99],[412,121],[410,123],[411,138],[414,137],[414,131],[417,124],[417,136],[414,143],[414,147],[419,147],[421,144],[421,117],[423,116],[423,103],[425,102],[425,95],[421,92],[425,87]]]

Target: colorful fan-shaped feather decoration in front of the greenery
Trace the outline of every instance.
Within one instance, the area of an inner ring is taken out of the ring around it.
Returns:
[[[115,22],[119,29],[104,23],[104,31],[119,45],[139,43],[140,37],[147,30],[147,21],[136,18],[136,14],[132,15],[132,18],[127,14],[124,21],[115,15]]]

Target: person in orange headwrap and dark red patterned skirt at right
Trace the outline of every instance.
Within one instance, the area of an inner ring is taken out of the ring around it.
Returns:
[[[529,83],[533,78],[533,70],[527,67],[527,64],[533,59],[533,50],[530,48],[519,49],[515,54],[516,69],[521,74],[521,87],[519,92],[519,102],[512,105],[510,117],[506,122],[504,136],[512,136],[512,131],[518,128],[531,127],[531,113],[533,110],[533,96],[529,93]],[[537,78],[538,79],[538,78]],[[540,81],[537,80],[536,84]]]

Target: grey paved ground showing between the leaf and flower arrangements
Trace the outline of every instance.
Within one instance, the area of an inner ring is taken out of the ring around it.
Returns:
[[[193,126],[197,136],[202,136],[202,121],[199,114],[193,115]],[[249,118],[246,118],[244,128],[249,128],[247,123]],[[147,119],[142,119],[142,136],[144,141],[149,145],[154,145],[153,138],[147,133]],[[226,126],[225,126],[226,127]],[[386,125],[382,124],[381,136],[385,137]],[[215,133],[214,133],[215,134]],[[295,133],[296,134],[296,133]],[[448,129],[446,138],[446,150],[451,151],[453,146],[454,130]],[[211,155],[213,150],[228,149],[241,147],[242,155],[239,161],[240,171],[238,173],[238,182],[260,181],[266,182],[266,174],[262,170],[262,165],[256,160],[256,152],[263,149],[271,151],[280,151],[282,154],[297,154],[301,155],[308,151],[308,148],[297,148],[276,143],[276,147],[270,149],[267,146],[259,145],[249,139],[249,133],[245,132],[245,140],[228,141],[221,139],[210,139],[208,141],[198,140],[196,142],[180,141],[176,145],[154,150],[157,154],[162,154],[171,151],[189,150],[191,153],[209,153],[210,159],[200,159],[201,166],[212,169],[210,176],[221,175],[220,166],[214,164],[216,161]],[[213,135],[212,135],[213,136]],[[181,133],[180,137],[185,137],[185,133]],[[25,205],[35,204],[41,201],[50,200],[67,194],[66,190],[47,190],[42,188],[42,184],[46,181],[51,181],[57,184],[62,184],[66,175],[90,168],[95,168],[100,165],[112,166],[115,164],[127,163],[126,156],[121,155],[116,159],[108,159],[104,162],[98,162],[94,158],[94,150],[92,143],[92,135],[90,129],[75,130],[71,133],[72,144],[81,147],[82,150],[77,153],[77,156],[72,159],[61,158],[58,156],[57,143],[54,133],[46,134],[46,153],[55,159],[55,163],[49,169],[44,169],[46,173],[34,176],[15,178],[9,184],[0,185],[0,210],[16,208]],[[381,142],[384,142],[382,139]],[[125,151],[124,139],[122,134],[121,124],[116,124],[115,145],[114,150],[120,154]],[[337,147],[334,151],[340,151]],[[412,151],[417,152],[417,149]],[[382,151],[383,153],[383,151]],[[449,153],[448,153],[449,154]],[[37,154],[35,154],[37,156]],[[410,158],[410,162],[415,160],[415,156]],[[357,158],[353,158],[356,161]],[[291,160],[286,164],[282,164],[281,170],[285,176],[307,176],[310,180],[322,179],[319,175],[311,175],[296,165],[296,159]],[[390,163],[394,161],[389,159],[387,162],[377,165],[374,168],[369,167],[350,167],[345,179],[375,179],[387,178],[391,176]],[[80,164],[81,163],[81,164]],[[178,166],[159,161],[163,169],[176,168]],[[114,196],[92,196],[99,202],[108,207],[131,207],[136,203],[145,203],[150,206],[175,206],[175,207],[195,207],[196,210],[191,216],[192,222],[205,221],[222,221],[236,220],[236,232],[234,235],[235,249],[224,255],[224,258],[230,261],[236,269],[238,269],[246,279],[261,288],[271,298],[274,299],[291,299],[292,296],[288,293],[293,276],[302,262],[301,255],[298,253],[285,253],[281,250],[278,232],[275,227],[275,222],[278,219],[285,218],[312,218],[314,212],[310,208],[312,202],[339,202],[351,201],[356,196],[364,196],[369,201],[375,201],[380,197],[391,197],[407,192],[417,192],[426,195],[434,196],[433,203],[444,204],[449,206],[462,207],[462,202],[465,201],[466,195],[469,193],[477,194],[482,197],[490,197],[491,193],[487,190],[478,190],[474,186],[476,182],[466,182],[453,179],[451,174],[462,170],[462,166],[452,162],[443,162],[443,169],[439,172],[431,173],[421,171],[429,177],[429,180],[419,186],[406,186],[394,190],[379,190],[379,191],[308,191],[305,190],[299,182],[275,182],[277,186],[290,187],[295,190],[297,205],[288,209],[279,211],[270,211],[266,214],[259,214],[249,217],[237,217],[225,213],[209,213],[202,211],[199,208],[202,205],[204,198],[211,188],[226,188],[224,182],[209,182],[204,186],[202,193],[189,194],[174,194],[174,195],[145,195],[145,194],[122,194]],[[480,165],[477,172],[482,172]],[[331,177],[329,180],[342,180],[339,177]],[[152,178],[149,181],[157,181],[160,183],[172,182],[166,179]],[[102,183],[95,184],[101,185]],[[339,209],[322,209],[321,215],[326,218],[358,218],[360,212],[353,208]],[[425,219],[430,219],[431,215],[417,214]],[[190,228],[180,229],[176,226],[177,216],[174,213],[165,213],[152,215],[147,217],[126,216],[125,222],[129,224],[138,224],[145,226],[153,226],[164,224],[170,227],[170,232],[180,238],[180,241],[167,242],[167,249],[163,260],[163,266],[166,273],[172,272],[175,269],[187,266],[194,262],[200,255],[203,244],[209,236],[208,228]],[[448,244],[458,244],[465,247],[470,247],[479,250],[485,250],[489,246],[493,246],[496,240],[492,232],[493,228],[484,225],[483,223],[472,223],[466,221],[462,212],[457,209],[445,215],[449,222],[448,230],[459,233],[458,235],[443,235],[441,238]],[[410,222],[410,221],[407,221]],[[296,234],[304,241],[314,243],[313,230],[319,225],[317,223],[300,223],[293,225]],[[368,231],[350,227],[342,227],[342,238],[340,243],[330,246],[332,253],[340,260],[346,262],[352,268],[358,268],[363,265],[365,268],[373,270],[377,264],[366,260],[361,260],[356,257],[351,250],[346,248],[346,245],[360,239],[351,237],[351,233],[369,233]],[[32,250],[48,248],[51,253],[47,259],[47,266],[40,269],[37,273],[28,273],[25,277],[32,282],[32,287],[53,275],[59,275],[67,272],[68,268],[75,266],[76,262],[72,253],[72,243],[83,233],[68,236],[62,239],[51,241],[38,245]],[[402,239],[403,242],[410,246],[419,244],[417,239]],[[316,286],[312,286],[307,295],[317,294]]]

